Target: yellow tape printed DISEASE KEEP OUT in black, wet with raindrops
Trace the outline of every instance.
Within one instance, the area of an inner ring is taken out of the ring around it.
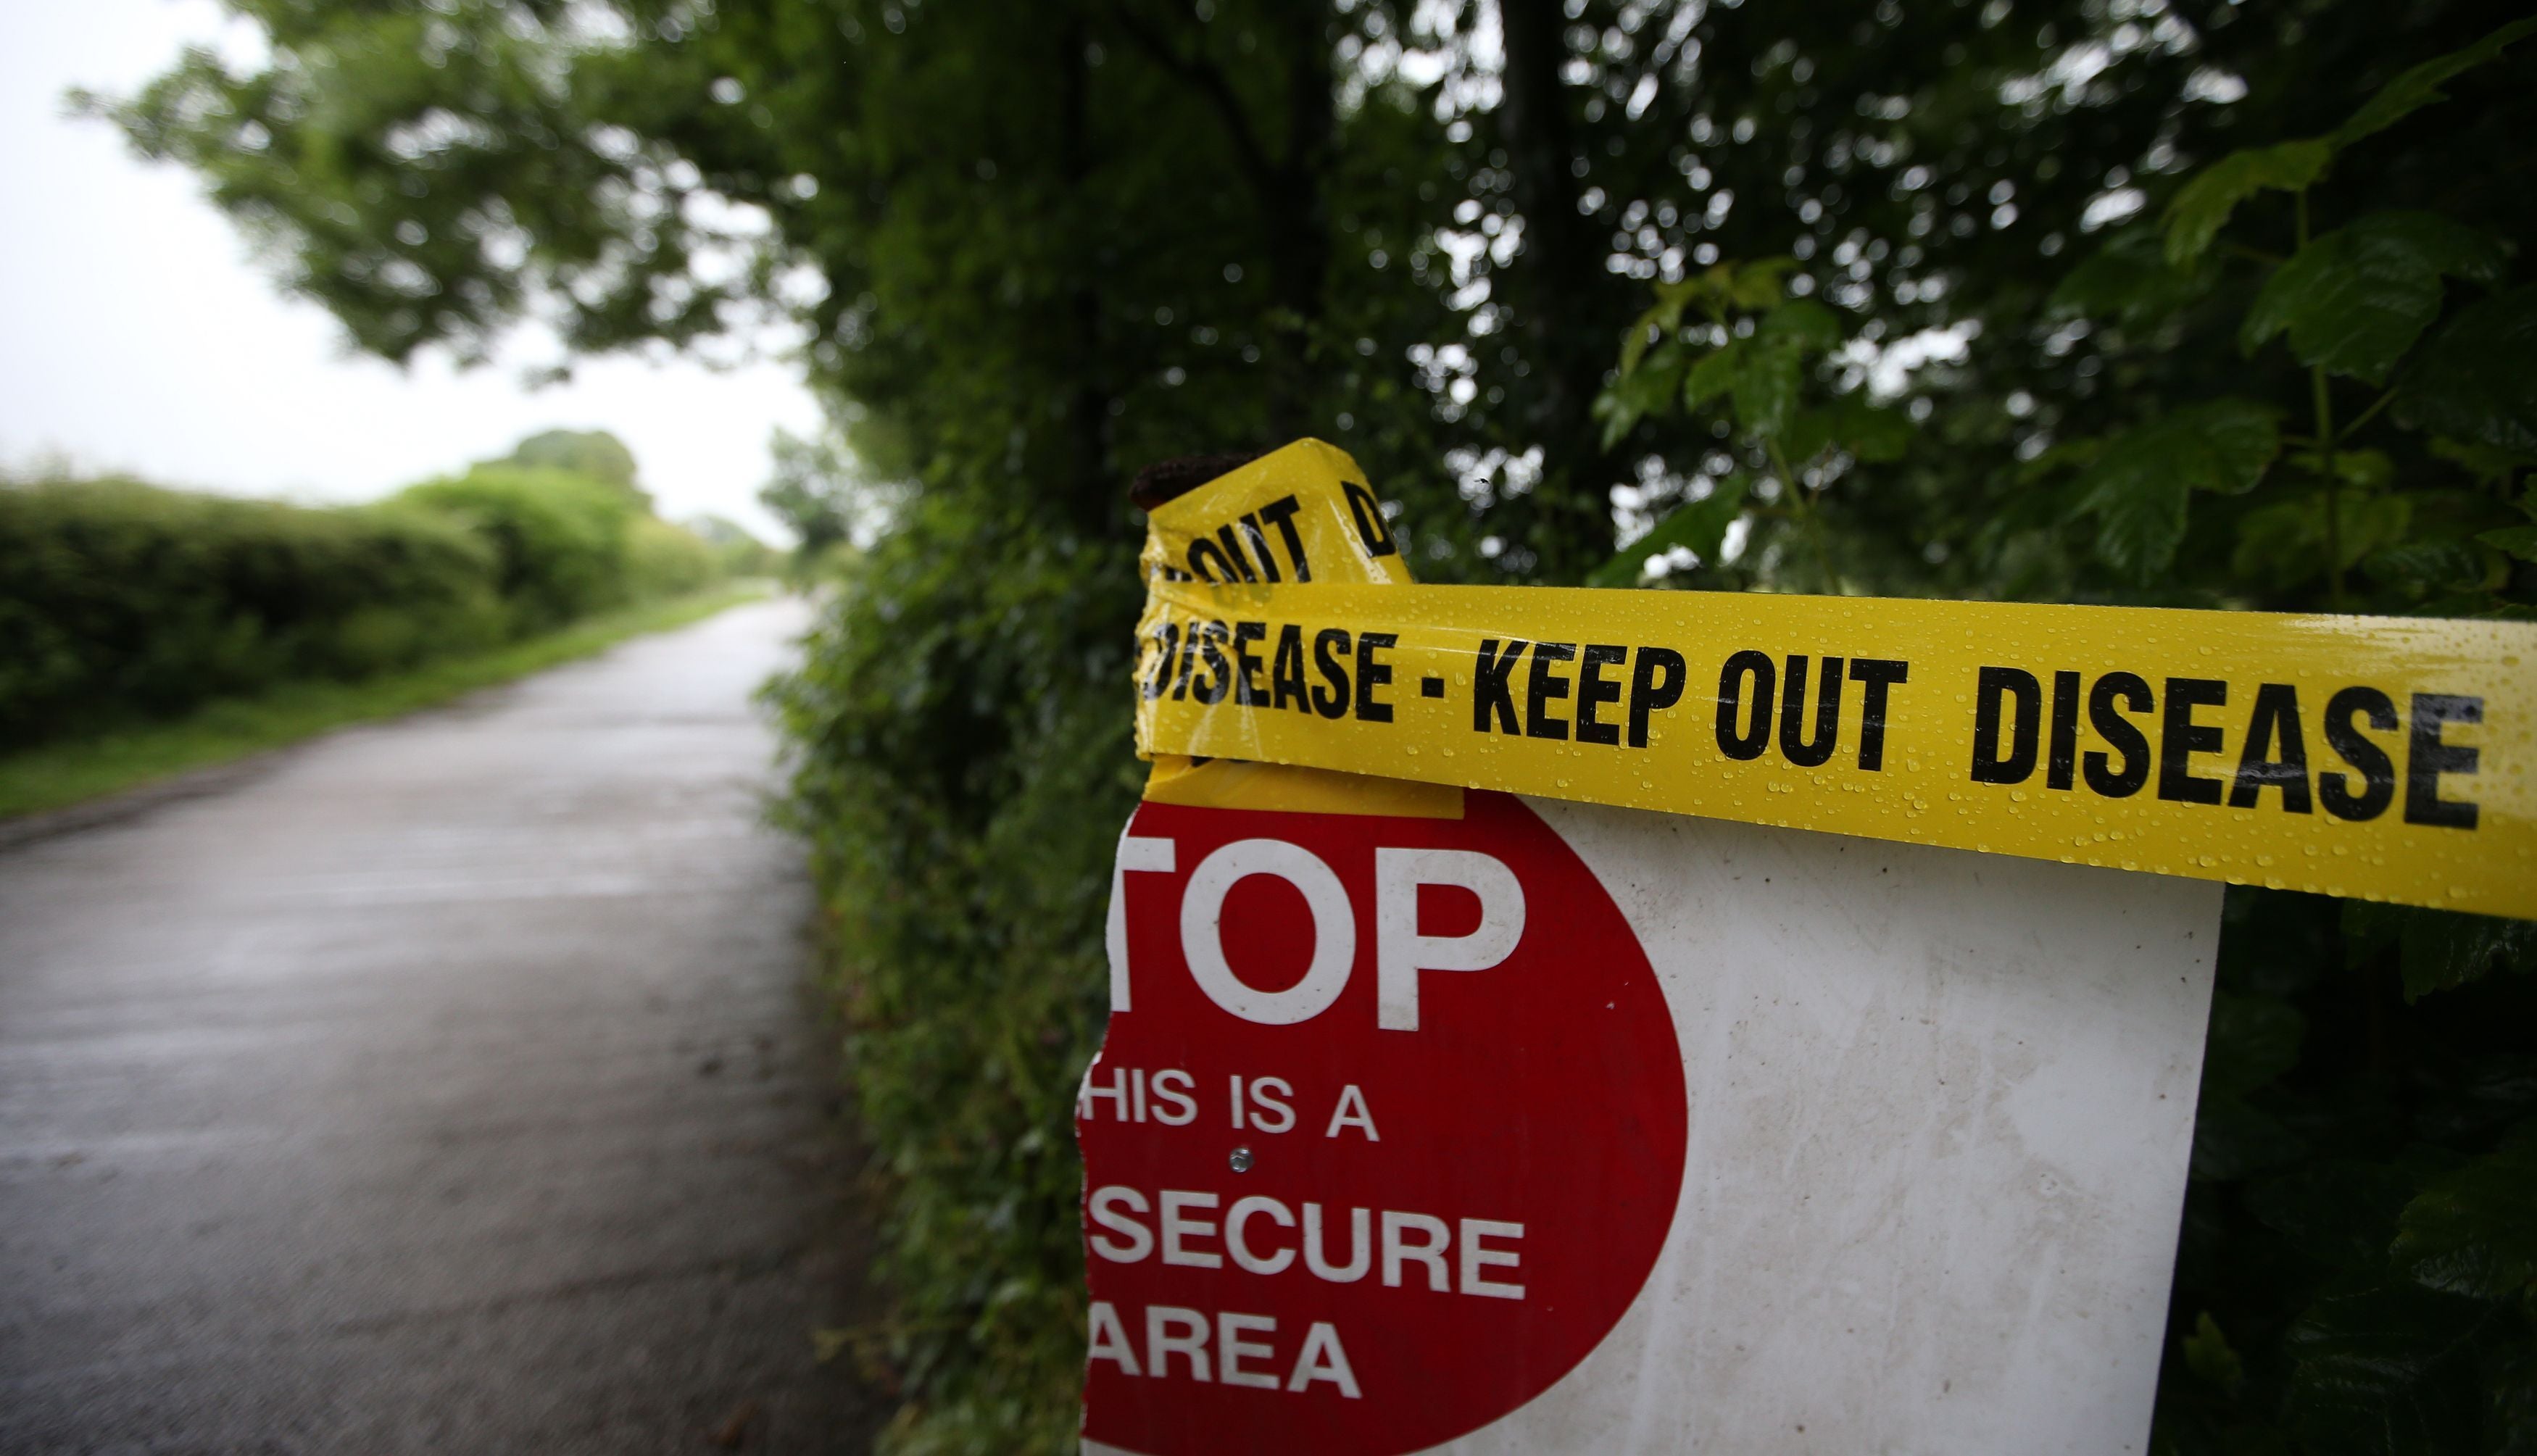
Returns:
[[[2537,918],[2537,627],[1411,586],[1340,452],[1238,477],[1154,512],[1142,753]]]

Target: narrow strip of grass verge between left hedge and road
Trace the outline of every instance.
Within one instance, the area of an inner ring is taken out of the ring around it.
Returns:
[[[66,809],[124,789],[211,769],[312,738],[345,723],[396,718],[434,708],[477,687],[492,687],[530,672],[589,657],[627,637],[667,632],[703,621],[715,611],[759,601],[764,583],[736,583],[606,611],[561,632],[444,657],[406,672],[386,672],[360,682],[292,682],[254,698],[205,703],[183,718],[134,723],[104,733],[38,743],[0,756],[0,819]]]

